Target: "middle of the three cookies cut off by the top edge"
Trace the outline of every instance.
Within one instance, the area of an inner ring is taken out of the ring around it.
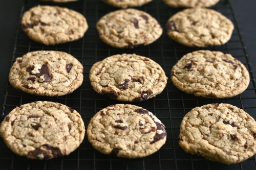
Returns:
[[[102,0],[103,2],[118,8],[139,7],[152,0]]]

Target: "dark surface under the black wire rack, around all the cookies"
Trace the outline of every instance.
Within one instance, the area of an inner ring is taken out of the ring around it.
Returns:
[[[21,9],[23,2],[21,0],[0,1],[0,21],[2,23],[0,32],[0,104],[2,106],[3,99],[5,99],[3,105],[4,116],[20,104],[30,103],[37,100],[47,100],[66,104],[73,109],[76,109],[81,113],[84,123],[87,126],[90,118],[101,108],[110,104],[123,103],[110,100],[108,97],[98,95],[93,91],[88,76],[90,67],[93,63],[113,54],[137,53],[139,55],[150,57],[158,62],[164,68],[166,76],[169,78],[170,69],[180,57],[188,52],[198,50],[195,48],[187,48],[173,42],[165,33],[160,40],[146,47],[138,47],[134,50],[118,50],[109,47],[102,43],[98,38],[97,32],[95,31],[95,22],[100,16],[114,10],[114,8],[108,7],[100,1],[98,1],[95,6],[92,3],[94,1],[88,0],[84,1],[87,3],[82,3],[80,1],[77,3],[61,5],[86,15],[89,22],[89,30],[86,33],[86,38],[78,40],[77,42],[50,47],[30,41],[18,27],[20,13],[23,12],[23,10],[28,10],[30,7],[39,4],[39,1],[25,1],[25,9]],[[250,66],[250,63],[247,61],[249,56],[251,66],[256,70],[256,59],[254,57],[256,52],[254,43],[254,39],[256,38],[256,34],[254,33],[256,26],[256,22],[254,21],[254,18],[256,18],[256,2],[252,0],[233,0],[231,2],[236,18],[233,16],[231,7],[228,4],[225,5],[224,0],[222,0],[221,4],[216,7],[218,11],[231,18],[235,25],[236,29],[230,42],[226,45],[209,47],[207,49],[231,53],[234,57],[241,60],[247,68]],[[158,3],[156,6],[148,4],[140,9],[145,10],[156,17],[162,26],[164,26],[170,15],[178,11],[173,9],[170,10],[161,3]],[[161,11],[161,13],[159,11]],[[242,37],[247,47],[248,56],[244,51],[243,42],[241,42],[236,19],[238,19],[240,25],[240,32],[243,33]],[[16,35],[17,37],[15,38]],[[59,50],[74,55],[84,66],[84,82],[82,86],[72,94],[59,98],[36,97],[12,88],[7,84],[11,59],[21,57],[23,54],[35,50]],[[251,70],[250,74],[252,75]],[[5,98],[4,94],[6,94]],[[27,160],[26,158],[16,156],[6,147],[3,140],[0,139],[0,169],[256,169],[255,156],[240,164],[223,165],[216,162],[206,161],[202,157],[191,156],[179,148],[177,144],[177,135],[179,133],[179,125],[183,115],[196,106],[222,102],[243,108],[255,118],[256,95],[253,81],[251,80],[249,88],[239,96],[224,100],[210,100],[195,98],[193,95],[180,92],[173,86],[169,78],[166,89],[163,93],[159,94],[157,98],[141,103],[133,103],[155,113],[166,126],[166,144],[156,154],[144,159],[132,160],[120,159],[115,156],[105,156],[95,151],[88,142],[88,139],[85,138],[81,147],[70,156],[52,161],[37,161]],[[1,116],[1,118],[2,117],[3,116]]]

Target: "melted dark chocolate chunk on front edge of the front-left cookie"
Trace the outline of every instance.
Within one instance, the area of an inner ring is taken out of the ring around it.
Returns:
[[[43,150],[43,149],[40,149],[40,148],[44,148],[46,150]],[[28,153],[29,156],[31,157],[34,157],[36,158],[37,155],[44,155],[44,158],[45,159],[49,159],[49,158],[57,158],[57,157],[60,157],[60,156],[63,156],[59,150],[59,148],[56,148],[56,147],[52,147],[50,144],[44,144],[44,145],[41,145],[41,147],[39,148],[36,148],[34,151],[30,151]],[[51,151],[51,152],[49,152]],[[51,155],[52,154],[52,155]]]

